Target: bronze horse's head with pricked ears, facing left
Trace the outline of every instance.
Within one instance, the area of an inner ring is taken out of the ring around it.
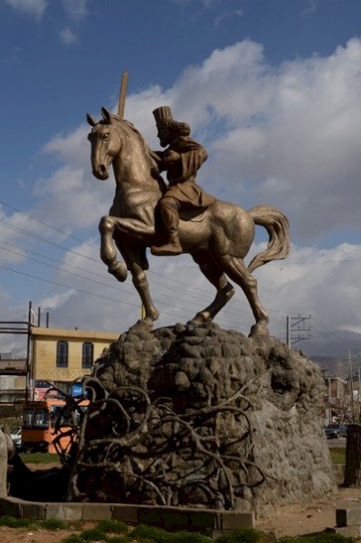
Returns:
[[[91,166],[97,179],[105,180],[109,176],[109,167],[119,154],[121,141],[114,117],[106,108],[101,109],[102,119],[98,122],[87,115],[92,131],[88,134],[91,143]]]

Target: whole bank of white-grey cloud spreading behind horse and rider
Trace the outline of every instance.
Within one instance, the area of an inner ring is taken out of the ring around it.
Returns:
[[[361,329],[361,245],[342,239],[342,232],[361,227],[360,61],[361,41],[353,39],[329,57],[272,67],[263,47],[245,40],[213,51],[201,65],[180,74],[170,89],[153,86],[127,99],[126,118],[154,149],[159,148],[151,114],[156,107],[168,104],[177,119],[191,123],[194,137],[210,155],[199,175],[205,189],[245,208],[270,204],[289,215],[291,256],[255,274],[271,329],[283,339],[285,316],[294,313],[326,319],[330,329]],[[65,232],[88,232],[93,245],[73,247],[84,256],[64,257],[64,265],[77,266],[88,278],[70,281],[66,266],[58,271],[59,283],[77,296],[57,303],[54,295],[53,317],[57,326],[121,331],[139,318],[140,301],[131,277],[120,284],[109,276],[94,247],[98,220],[108,213],[115,183],[92,177],[87,132],[82,124],[46,144],[44,151],[62,165],[35,185],[36,216]],[[328,248],[317,247],[331,229],[338,239],[331,236]],[[253,253],[260,250],[261,239],[257,234]],[[150,264],[147,277],[160,308],[157,326],[185,322],[211,302],[214,289],[190,257],[150,257]],[[251,308],[237,290],[216,321],[248,333]]]

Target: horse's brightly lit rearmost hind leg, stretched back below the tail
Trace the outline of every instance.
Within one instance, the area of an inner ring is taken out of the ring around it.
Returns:
[[[268,313],[258,298],[257,280],[248,271],[242,258],[229,255],[217,256],[217,262],[219,266],[222,266],[224,273],[242,288],[250,303],[255,318],[255,324],[251,329],[250,336],[256,333],[268,333]]]

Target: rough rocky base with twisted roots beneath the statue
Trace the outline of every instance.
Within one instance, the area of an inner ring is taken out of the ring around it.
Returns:
[[[69,501],[254,510],[335,489],[319,368],[211,323],[129,330],[96,362]]]

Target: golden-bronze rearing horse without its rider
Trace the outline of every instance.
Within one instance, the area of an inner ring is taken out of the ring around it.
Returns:
[[[125,281],[130,272],[144,308],[139,324],[150,328],[159,311],[151,298],[145,274],[149,268],[146,249],[156,242],[155,208],[165,190],[152,151],[140,132],[128,120],[111,115],[102,108],[98,122],[88,115],[92,131],[91,165],[99,180],[108,178],[113,165],[116,193],[109,214],[99,223],[100,256],[108,272]],[[243,258],[254,240],[254,225],[262,225],[269,235],[267,248],[254,256],[249,266]],[[257,294],[257,282],[252,272],[266,262],[285,258],[289,252],[289,223],[277,209],[258,205],[249,211],[217,200],[203,213],[193,216],[180,214],[180,243],[183,253],[189,253],[201,272],[216,288],[210,306],[191,319],[192,323],[211,321],[232,298],[234,288],[227,276],[237,283],[253,310],[255,324],[251,334],[267,333],[268,314]],[[124,259],[117,259],[117,249]]]

